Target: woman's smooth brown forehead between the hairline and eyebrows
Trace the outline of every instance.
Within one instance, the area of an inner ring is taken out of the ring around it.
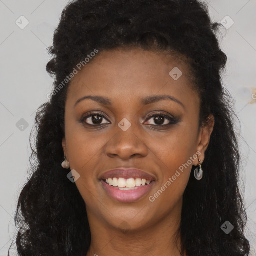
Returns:
[[[189,65],[180,56],[136,48],[106,50],[75,75],[68,97],[95,94],[138,99],[167,93],[189,100],[197,95],[190,77]]]

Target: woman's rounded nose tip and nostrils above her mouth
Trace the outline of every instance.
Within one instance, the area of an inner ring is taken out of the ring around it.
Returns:
[[[135,134],[130,127],[126,131],[117,131],[107,142],[105,152],[109,157],[129,159],[134,156],[145,157],[148,148],[140,134]]]

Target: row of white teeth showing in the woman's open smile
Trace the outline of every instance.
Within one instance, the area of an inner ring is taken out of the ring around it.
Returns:
[[[115,187],[121,187],[123,189],[121,190],[127,190],[125,188],[136,188],[138,186],[144,186],[145,184],[149,185],[151,183],[150,180],[146,180],[144,178],[107,178],[105,179],[106,183],[115,186]]]

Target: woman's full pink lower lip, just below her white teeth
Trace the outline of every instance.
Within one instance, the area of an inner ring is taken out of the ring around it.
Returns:
[[[150,184],[144,185],[142,187],[133,189],[133,190],[119,190],[114,188],[113,186],[108,185],[102,179],[100,180],[104,190],[110,195],[112,198],[116,199],[120,202],[134,202],[142,198],[155,184],[155,181],[151,181]]]

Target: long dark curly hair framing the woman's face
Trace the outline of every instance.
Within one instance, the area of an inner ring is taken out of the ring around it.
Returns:
[[[244,256],[250,251],[238,187],[237,116],[221,78],[227,57],[217,39],[220,25],[210,20],[207,5],[197,0],[75,0],[63,10],[49,48],[52,58],[47,71],[55,78],[55,89],[95,48],[100,54],[137,47],[187,59],[200,96],[200,125],[207,123],[210,114],[215,118],[204,177],[196,182],[193,166],[183,194],[179,231],[181,253],[188,256]],[[31,148],[35,140],[31,173],[15,212],[16,226],[28,227],[15,237],[20,256],[84,256],[90,246],[85,202],[60,164],[69,83],[39,107],[36,135],[30,134]],[[226,220],[234,226],[228,235],[220,228]]]

